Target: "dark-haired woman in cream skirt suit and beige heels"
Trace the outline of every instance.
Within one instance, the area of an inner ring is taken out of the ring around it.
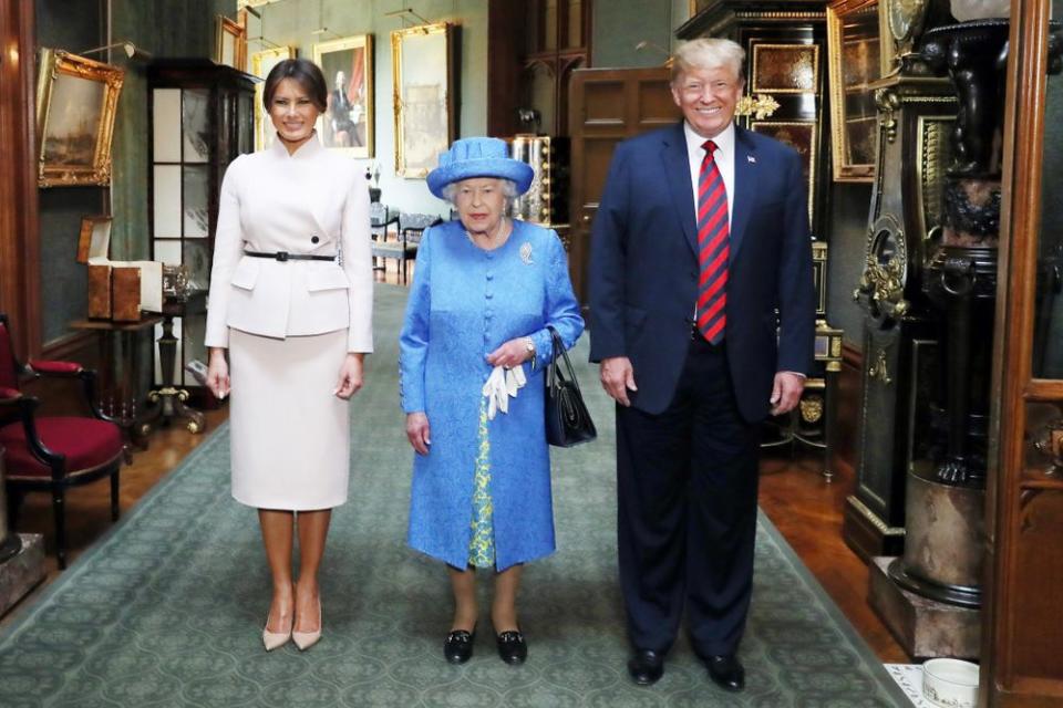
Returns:
[[[373,347],[369,190],[318,140],[327,97],[312,62],[274,67],[264,103],[277,140],[229,165],[215,235],[207,379],[219,398],[235,392],[233,497],[258,509],[274,584],[267,650],[321,636],[318,568],[347,500],[348,399]]]

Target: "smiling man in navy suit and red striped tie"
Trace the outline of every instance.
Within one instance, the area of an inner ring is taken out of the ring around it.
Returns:
[[[744,687],[760,424],[797,404],[813,362],[801,160],[734,125],[744,59],[730,40],[680,46],[684,121],[617,147],[592,231],[590,357],[618,404],[628,671],[643,685],[685,605],[710,677]]]

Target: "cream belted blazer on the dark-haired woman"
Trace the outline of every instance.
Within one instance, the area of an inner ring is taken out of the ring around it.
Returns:
[[[245,251],[342,253],[342,267]],[[233,160],[207,308],[207,346],[227,347],[229,327],[278,339],[347,329],[348,352],[373,351],[369,186],[351,159],[314,136],[295,155],[277,140]]]

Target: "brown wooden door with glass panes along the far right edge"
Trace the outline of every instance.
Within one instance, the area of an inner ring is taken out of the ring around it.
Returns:
[[[1063,705],[1063,75],[1047,75],[1051,6],[1011,4],[1004,102],[980,702],[1009,708]]]

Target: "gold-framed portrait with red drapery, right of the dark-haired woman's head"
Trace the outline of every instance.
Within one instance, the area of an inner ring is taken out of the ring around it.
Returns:
[[[313,45],[313,61],[329,84],[329,105],[318,135],[329,149],[373,156],[373,35],[357,34]]]

